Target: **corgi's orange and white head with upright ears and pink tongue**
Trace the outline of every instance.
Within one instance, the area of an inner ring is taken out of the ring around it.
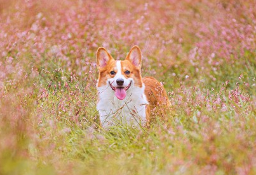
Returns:
[[[119,100],[132,87],[142,87],[140,48],[135,45],[123,61],[116,61],[104,47],[97,51],[98,87],[111,87]]]

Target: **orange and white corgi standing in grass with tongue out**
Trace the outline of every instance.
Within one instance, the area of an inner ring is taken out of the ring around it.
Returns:
[[[142,78],[141,67],[137,45],[123,61],[115,60],[104,47],[98,48],[97,111],[103,128],[119,123],[148,126],[152,116],[166,114],[170,101],[165,88],[155,78]]]

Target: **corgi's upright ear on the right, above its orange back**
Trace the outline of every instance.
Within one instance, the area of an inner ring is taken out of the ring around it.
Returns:
[[[138,47],[137,45],[134,45],[128,56],[126,57],[126,59],[128,59],[129,61],[131,61],[131,63],[136,66],[137,68],[141,68],[141,51],[140,51],[140,47]]]

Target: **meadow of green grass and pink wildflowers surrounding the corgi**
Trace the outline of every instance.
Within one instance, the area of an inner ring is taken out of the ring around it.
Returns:
[[[256,174],[254,0],[0,0],[0,174]],[[98,128],[97,48],[142,49],[172,113]]]

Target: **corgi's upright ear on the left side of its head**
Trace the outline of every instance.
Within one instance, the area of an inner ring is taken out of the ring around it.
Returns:
[[[107,63],[113,59],[104,47],[98,47],[97,51],[97,67],[104,68]]]

